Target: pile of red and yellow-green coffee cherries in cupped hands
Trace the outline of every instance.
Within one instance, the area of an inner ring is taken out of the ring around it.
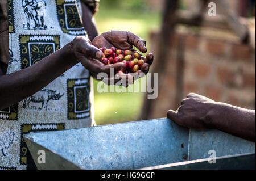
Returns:
[[[135,73],[138,70],[141,70],[141,67],[144,64],[144,60],[140,59],[141,54],[139,54],[138,52],[132,53],[131,50],[123,51],[121,49],[115,49],[115,47],[111,47],[106,50],[100,48],[100,50],[104,54],[101,60],[103,64],[109,65],[118,62],[122,62],[125,64],[125,69],[120,70],[119,73]]]

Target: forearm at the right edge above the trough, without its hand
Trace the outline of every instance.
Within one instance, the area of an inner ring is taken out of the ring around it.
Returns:
[[[206,124],[211,128],[255,142],[255,110],[216,103],[207,115]]]

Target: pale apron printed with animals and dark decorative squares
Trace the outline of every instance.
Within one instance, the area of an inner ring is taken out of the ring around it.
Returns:
[[[7,74],[36,64],[76,36],[87,36],[75,0],[8,2]],[[0,110],[0,169],[35,168],[24,134],[95,125],[90,82],[89,71],[79,63],[36,94]]]

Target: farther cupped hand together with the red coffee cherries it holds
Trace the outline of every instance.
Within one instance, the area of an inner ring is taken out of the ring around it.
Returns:
[[[154,60],[152,53],[146,57],[136,52],[133,46],[137,47],[142,53],[147,52],[146,41],[127,31],[108,31],[95,37],[92,44],[104,52],[105,57],[102,60],[106,65],[115,65],[119,62],[125,64],[125,69],[119,71],[125,74],[129,72],[148,73],[149,67]]]

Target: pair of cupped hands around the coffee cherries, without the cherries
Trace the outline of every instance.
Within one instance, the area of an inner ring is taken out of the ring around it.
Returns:
[[[106,50],[110,47],[115,47],[116,49],[130,50],[134,55],[135,49],[133,49],[133,46],[137,47],[143,53],[147,52],[146,42],[133,33],[126,31],[108,31],[102,33],[102,35],[95,37],[92,43],[84,36],[77,36],[67,45],[68,49],[71,51],[72,60],[80,61],[94,78],[97,77],[98,73],[107,73],[110,75],[110,69],[114,69],[115,73],[117,73],[117,75],[119,74],[120,79],[126,77],[126,86],[134,82],[132,75],[127,73],[120,75],[121,71],[126,69],[126,64],[124,64],[124,62],[115,62],[115,64],[105,65],[101,62],[102,58],[104,58],[104,54],[102,54],[102,51],[98,48],[104,48]],[[139,71],[147,73],[154,59],[153,54],[148,53],[145,58],[138,53],[138,57],[144,60],[144,64],[141,65]],[[136,69],[136,67],[138,68],[138,66],[135,66],[134,69]],[[137,71],[137,73],[139,73],[139,71]],[[110,81],[110,79],[114,79],[114,83],[119,81],[119,79],[115,77],[109,77],[103,81],[110,85],[110,83],[113,82]]]

